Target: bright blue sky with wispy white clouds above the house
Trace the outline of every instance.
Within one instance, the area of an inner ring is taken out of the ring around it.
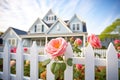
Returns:
[[[49,9],[62,20],[77,14],[86,22],[88,34],[100,34],[120,18],[120,0],[0,0],[0,31],[9,27],[28,31]]]

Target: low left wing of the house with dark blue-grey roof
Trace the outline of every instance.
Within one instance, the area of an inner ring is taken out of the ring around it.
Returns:
[[[9,27],[7,31],[1,36],[3,39],[3,44],[8,41],[11,47],[17,47],[18,41],[22,40],[20,35],[27,35],[27,32]]]

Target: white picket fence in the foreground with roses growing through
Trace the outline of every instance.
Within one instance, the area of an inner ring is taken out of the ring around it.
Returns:
[[[72,47],[69,44],[65,53],[65,59],[72,58],[73,64],[85,65],[85,80],[95,80],[95,66],[106,66],[106,80],[118,80],[118,68],[120,60],[117,58],[117,52],[112,43],[110,43],[106,58],[94,57],[94,51],[91,45],[85,50],[85,57],[73,57]],[[10,47],[6,43],[4,52],[0,53],[3,58],[3,72],[0,72],[0,78],[3,80],[38,80],[38,62],[48,59],[46,55],[38,55],[36,42],[33,42],[30,48],[30,54],[23,53],[22,43],[19,42],[16,54],[10,54]],[[16,75],[10,73],[10,59],[16,59]],[[25,77],[24,60],[30,60],[30,77]],[[50,64],[47,65],[47,80],[54,80],[51,73]],[[73,66],[67,66],[64,72],[64,80],[73,80]]]

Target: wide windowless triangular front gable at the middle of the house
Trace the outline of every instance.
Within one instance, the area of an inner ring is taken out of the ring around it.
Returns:
[[[72,33],[72,31],[64,24],[62,21],[58,20],[47,34],[64,34],[64,33]]]

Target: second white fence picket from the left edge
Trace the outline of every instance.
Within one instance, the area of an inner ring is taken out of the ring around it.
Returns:
[[[18,42],[16,52],[16,80],[23,80],[24,64],[23,64],[23,47],[22,42]]]

